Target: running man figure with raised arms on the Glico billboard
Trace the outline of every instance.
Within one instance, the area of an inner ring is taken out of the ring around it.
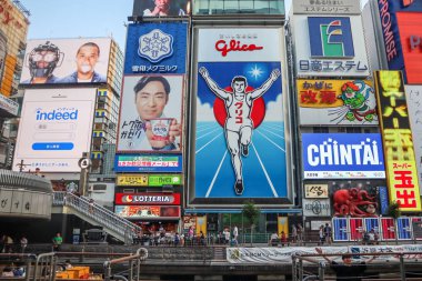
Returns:
[[[253,121],[251,112],[253,101],[260,98],[270,89],[272,83],[279,78],[280,70],[271,72],[270,78],[258,89],[245,92],[248,81],[245,77],[237,76],[231,82],[233,93],[221,89],[210,77],[205,68],[200,68],[199,72],[205,80],[210,90],[224,101],[227,119],[224,124],[225,142],[231,154],[231,161],[235,173],[235,194],[243,193],[242,160],[240,149],[244,157],[249,153],[249,143],[252,140]]]

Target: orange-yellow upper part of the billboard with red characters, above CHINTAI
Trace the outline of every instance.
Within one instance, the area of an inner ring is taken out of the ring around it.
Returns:
[[[365,89],[372,89],[368,80],[300,79],[297,87],[301,108],[358,108],[368,99]]]

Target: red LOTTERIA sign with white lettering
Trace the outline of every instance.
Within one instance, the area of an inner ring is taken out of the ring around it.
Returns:
[[[180,204],[180,193],[115,193],[115,204]]]

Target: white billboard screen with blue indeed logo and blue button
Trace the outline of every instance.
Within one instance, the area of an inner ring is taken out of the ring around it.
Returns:
[[[27,90],[13,171],[78,172],[91,147],[97,89]]]

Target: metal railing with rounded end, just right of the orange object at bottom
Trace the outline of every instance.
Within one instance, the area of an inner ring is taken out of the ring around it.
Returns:
[[[148,258],[148,250],[145,248],[139,248],[135,254],[131,254],[128,257],[110,260],[104,262],[104,281],[110,281],[111,279],[115,280],[137,280],[139,281],[140,271],[141,271],[141,262]],[[122,275],[122,272],[119,274],[112,275],[112,265],[119,263],[129,263],[129,272],[128,279]],[[137,262],[135,271],[133,271],[133,262]],[[113,278],[114,277],[114,278]]]

